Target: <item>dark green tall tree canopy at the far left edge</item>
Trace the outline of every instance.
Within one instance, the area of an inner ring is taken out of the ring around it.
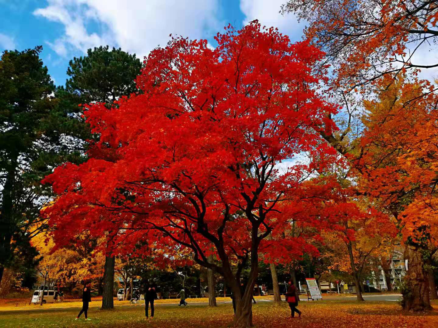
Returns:
[[[80,122],[53,98],[41,51],[41,46],[5,51],[0,60],[0,279],[4,267],[17,260],[14,251],[29,249],[29,238],[45,228],[35,221],[51,190],[39,180],[59,163],[81,157],[65,139],[80,130]]]

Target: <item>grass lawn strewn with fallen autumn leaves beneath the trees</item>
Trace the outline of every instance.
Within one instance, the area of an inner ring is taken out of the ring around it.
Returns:
[[[194,300],[191,300],[194,303]],[[117,303],[116,303],[117,304]],[[46,304],[49,305],[49,304]],[[62,304],[59,304],[62,305]],[[65,305],[65,304],[64,304]],[[176,304],[158,303],[155,305],[155,318],[146,321],[143,306],[117,306],[111,311],[99,310],[100,302],[91,303],[88,311],[92,321],[84,317],[74,318],[80,307],[72,302],[66,308],[34,306],[28,309],[0,309],[0,327],[187,327],[187,328],[225,328],[233,319],[231,304],[220,304],[209,308],[206,305],[191,304],[178,307]],[[438,304],[427,314],[406,314],[400,311],[395,302],[366,302],[327,300],[300,302],[303,311],[301,319],[290,319],[286,303],[275,306],[272,302],[259,301],[253,307],[253,321],[258,328],[389,328],[389,327],[438,327]],[[3,310],[3,311],[2,311]],[[150,311],[150,310],[149,310]],[[293,320],[293,321],[292,321]]]

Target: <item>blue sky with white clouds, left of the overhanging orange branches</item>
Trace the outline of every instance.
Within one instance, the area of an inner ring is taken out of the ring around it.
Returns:
[[[304,27],[279,14],[286,0],[0,0],[0,52],[43,45],[42,60],[57,85],[68,62],[99,45],[121,47],[142,58],[169,34],[213,36],[228,23],[258,19],[299,40]]]

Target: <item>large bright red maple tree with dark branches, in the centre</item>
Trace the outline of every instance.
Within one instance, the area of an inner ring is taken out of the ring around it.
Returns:
[[[56,224],[58,243],[86,230],[107,234],[117,252],[148,245],[166,254],[163,261],[191,252],[224,277],[237,304],[234,326],[248,327],[263,239],[292,215],[325,224],[306,215],[299,195],[310,174],[336,161],[319,132],[332,128],[327,113],[337,107],[317,93],[325,78],[313,68],[323,53],[308,42],[291,44],[257,22],[240,31],[229,26],[216,41],[211,50],[206,40],[172,38],[145,60],[136,80],[141,93],[110,109],[86,106],[99,141],[87,162],[46,177],[59,196],[43,215]],[[304,152],[311,160],[299,163]],[[281,172],[282,161],[293,165]],[[283,257],[305,248],[286,236],[264,251],[276,245]],[[211,252],[217,263],[208,261]]]

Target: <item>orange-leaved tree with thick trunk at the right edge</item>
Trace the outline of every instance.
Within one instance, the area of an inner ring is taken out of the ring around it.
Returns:
[[[400,76],[388,87],[379,81],[378,99],[365,102],[365,131],[357,145],[359,188],[398,221],[408,271],[403,290],[406,309],[430,308],[431,256],[438,249],[438,97],[425,81]]]

